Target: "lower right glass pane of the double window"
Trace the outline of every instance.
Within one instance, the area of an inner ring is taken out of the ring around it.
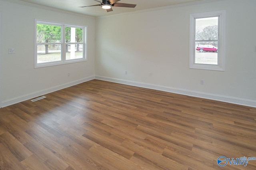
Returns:
[[[67,46],[66,60],[83,58],[83,44],[67,44]]]

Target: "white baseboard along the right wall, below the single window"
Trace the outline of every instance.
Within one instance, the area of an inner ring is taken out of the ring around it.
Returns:
[[[115,78],[111,78],[111,77],[103,77],[103,76],[98,76],[98,75],[95,75],[95,79],[110,81],[110,82],[120,83],[120,84],[125,84],[125,85],[132,85],[132,86],[136,86],[136,87],[144,87],[147,89],[166,91],[166,92],[170,92],[170,93],[176,93],[176,94],[187,95],[187,96],[192,96],[192,97],[199,97],[199,98],[204,98],[204,99],[223,101],[223,102],[227,102],[227,103],[234,103],[234,104],[238,104],[238,105],[256,107],[256,101],[254,101],[254,100],[241,99],[241,98],[222,96],[222,95],[214,95],[214,94],[210,94],[210,93],[202,93],[202,92],[198,92],[198,91],[177,89],[177,88],[165,87],[165,86],[161,86],[161,85],[141,83],[141,82],[129,81],[129,80],[123,80],[123,79],[115,79]]]

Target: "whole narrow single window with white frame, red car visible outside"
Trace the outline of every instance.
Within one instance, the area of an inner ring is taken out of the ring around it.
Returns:
[[[190,68],[225,70],[225,11],[190,14]]]

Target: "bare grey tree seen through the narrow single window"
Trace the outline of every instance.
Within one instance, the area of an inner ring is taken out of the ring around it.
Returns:
[[[196,40],[202,40],[200,44],[210,44],[218,47],[218,26],[207,26],[203,29],[196,28]],[[212,42],[204,42],[204,40],[213,40]]]

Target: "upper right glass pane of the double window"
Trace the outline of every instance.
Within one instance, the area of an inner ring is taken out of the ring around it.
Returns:
[[[74,27],[65,27],[65,42],[76,43],[83,42],[83,29]]]

